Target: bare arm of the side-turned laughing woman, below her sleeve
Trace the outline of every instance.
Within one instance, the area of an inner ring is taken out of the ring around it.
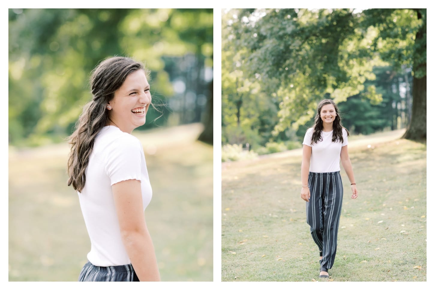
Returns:
[[[145,223],[141,182],[131,179],[112,185],[121,237],[140,281],[160,281],[154,245]]]

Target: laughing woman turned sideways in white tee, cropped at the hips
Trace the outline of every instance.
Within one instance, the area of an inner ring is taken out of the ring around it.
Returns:
[[[101,62],[70,136],[68,185],[77,190],[91,248],[79,281],[158,281],[144,209],[151,185],[143,147],[131,135],[151,104],[147,71],[127,57]]]

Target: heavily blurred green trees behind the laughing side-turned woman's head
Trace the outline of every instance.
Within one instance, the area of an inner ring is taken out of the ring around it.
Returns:
[[[146,63],[158,110],[138,130],[202,122],[213,137],[212,9],[10,9],[9,142],[42,145],[72,133],[106,57]]]

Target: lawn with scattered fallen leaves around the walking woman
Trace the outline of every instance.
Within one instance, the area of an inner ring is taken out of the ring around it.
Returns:
[[[330,281],[426,281],[426,144],[356,138]],[[370,144],[370,148],[368,148]],[[222,281],[319,280],[301,191],[301,151],[222,163]]]

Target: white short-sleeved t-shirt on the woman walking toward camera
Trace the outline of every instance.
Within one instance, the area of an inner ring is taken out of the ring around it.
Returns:
[[[340,140],[332,142],[332,132],[321,131],[322,141],[311,145],[311,136],[313,128],[309,128],[305,133],[302,144],[311,147],[311,172],[335,172],[340,171],[340,153],[341,147],[348,145],[348,133],[345,128],[343,132],[343,143]]]

